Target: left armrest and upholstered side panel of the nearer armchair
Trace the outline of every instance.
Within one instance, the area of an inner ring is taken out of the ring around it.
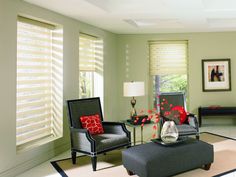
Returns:
[[[86,129],[70,127],[71,149],[95,152],[95,140]]]

